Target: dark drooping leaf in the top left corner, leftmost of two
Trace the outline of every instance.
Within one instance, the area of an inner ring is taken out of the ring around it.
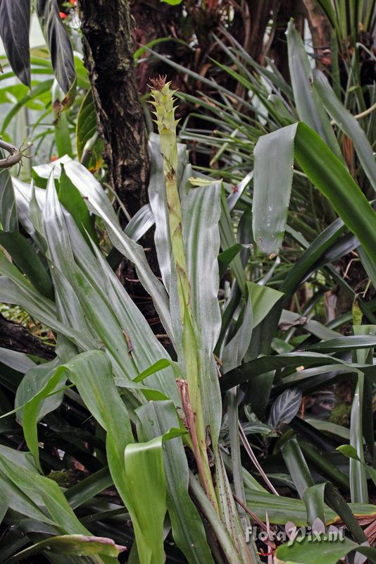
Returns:
[[[13,73],[30,86],[30,0],[0,1],[0,36]]]

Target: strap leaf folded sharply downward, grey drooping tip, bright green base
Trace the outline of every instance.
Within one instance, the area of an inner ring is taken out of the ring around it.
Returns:
[[[294,157],[376,261],[376,214],[320,135],[299,122],[258,140],[254,152],[253,235],[262,252],[278,252],[292,187]]]

